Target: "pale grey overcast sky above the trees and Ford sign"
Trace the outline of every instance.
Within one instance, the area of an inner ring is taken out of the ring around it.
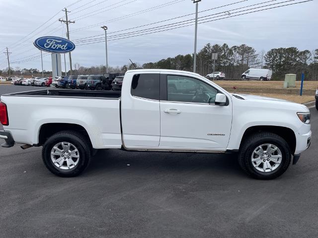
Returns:
[[[77,2],[78,1],[78,2]],[[238,2],[239,0],[202,0],[199,11],[213,7]],[[199,13],[199,17],[220,13],[211,17],[224,15],[225,11],[235,15],[235,8],[261,3],[268,0],[246,0],[231,6]],[[272,0],[262,5],[283,2],[286,0]],[[282,4],[300,2],[291,0]],[[75,3],[77,2],[77,3]],[[165,7],[146,9],[171,2]],[[175,2],[175,3],[174,3]],[[8,47],[10,66],[20,68],[41,69],[41,59],[32,60],[39,55],[39,50],[33,46],[33,41],[40,36],[65,37],[65,24],[58,18],[65,16],[61,9],[68,6],[70,24],[70,39],[75,41],[95,35],[103,37],[102,25],[108,26],[109,40],[111,35],[123,34],[160,25],[193,19],[194,15],[165,21],[159,24],[136,28],[129,31],[114,33],[119,30],[141,26],[173,17],[195,12],[192,0],[0,0],[0,69],[7,67],[4,48]],[[96,4],[96,5],[95,5]],[[261,6],[261,5],[257,5]],[[256,7],[256,6],[252,6]],[[264,8],[267,8],[264,7]],[[77,8],[77,9],[76,9]],[[242,9],[248,9],[242,8]],[[242,10],[240,9],[240,10]],[[258,8],[262,9],[262,8]],[[257,9],[255,9],[257,10]],[[102,12],[103,11],[103,12]],[[99,13],[100,12],[100,13]],[[139,12],[138,14],[133,14]],[[279,7],[230,17],[198,25],[198,51],[207,43],[233,45],[247,44],[258,52],[279,47],[297,47],[301,50],[318,48],[318,0]],[[241,12],[242,13],[242,12]],[[54,16],[57,14],[56,16]],[[129,15],[125,19],[116,18]],[[54,17],[53,17],[54,16]],[[51,20],[49,20],[53,17]],[[224,16],[222,16],[224,17]],[[115,19],[115,20],[114,20]],[[217,19],[217,18],[213,18]],[[48,22],[46,22],[49,20]],[[112,22],[107,22],[113,20]],[[45,23],[46,22],[46,23]],[[45,23],[45,24],[43,24]],[[43,24],[43,26],[41,26]],[[87,28],[86,26],[96,26]],[[39,29],[36,30],[41,26]],[[86,27],[86,29],[79,29]],[[79,30],[78,30],[79,29]],[[105,43],[81,45],[75,43],[76,49],[72,53],[73,65],[92,66],[105,64]],[[159,33],[119,39],[108,42],[108,63],[111,66],[123,65],[132,59],[145,63],[158,61],[179,54],[192,54],[194,45],[194,26],[163,31]],[[30,60],[20,63],[17,61]],[[43,58],[44,69],[51,70],[51,58]],[[67,59],[69,65],[69,60]],[[64,59],[62,57],[64,70]],[[67,66],[69,68],[69,66]],[[74,66],[73,66],[74,67]]]

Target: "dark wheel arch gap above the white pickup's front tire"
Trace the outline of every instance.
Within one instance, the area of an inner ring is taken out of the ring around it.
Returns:
[[[284,126],[276,126],[276,125],[255,125],[248,127],[240,140],[239,148],[241,148],[243,141],[251,134],[260,132],[260,131],[267,131],[277,134],[284,138],[288,145],[290,146],[291,153],[294,154],[296,150],[296,135],[295,132],[288,127]]]

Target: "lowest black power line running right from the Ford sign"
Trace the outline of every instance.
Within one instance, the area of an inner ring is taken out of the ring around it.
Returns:
[[[246,14],[250,14],[250,13],[253,13],[253,12],[259,12],[259,11],[264,11],[264,10],[268,10],[268,9],[279,8],[279,7],[288,6],[288,5],[294,5],[294,4],[309,2],[309,1],[313,1],[313,0],[305,0],[305,1],[301,1],[301,2],[289,3],[289,4],[285,4],[285,5],[281,5],[281,6],[268,7],[268,8],[264,8],[264,9],[254,10],[254,11],[251,11],[251,12],[240,13],[240,14],[237,14],[237,15],[232,15],[232,14],[231,14],[230,16],[222,17],[222,18],[218,18],[218,19],[213,19],[213,20],[204,19],[204,20],[207,20],[207,21],[202,21],[202,22],[199,22],[198,24],[202,24],[202,23],[206,23],[206,22],[212,22],[212,21],[217,21],[217,20],[226,19],[226,18],[231,18],[231,17],[235,17],[235,16],[240,16],[240,15],[246,15]],[[192,25],[194,25],[194,24],[193,24],[193,23],[188,23],[188,25],[173,27],[173,28],[170,28],[170,29],[159,30],[159,31],[154,31],[154,32],[150,32],[150,33],[139,34],[139,35],[135,35],[135,36],[118,37],[118,38],[111,39],[111,40],[108,40],[108,41],[122,40],[122,39],[131,38],[131,37],[136,37],[136,36],[149,35],[149,34],[153,34],[153,33],[158,33],[158,32],[163,32],[163,31],[178,29],[178,28],[182,28],[182,27],[186,27],[186,26],[192,26]],[[95,43],[101,43],[101,42],[104,42],[104,41],[95,41],[95,42],[91,42],[91,43],[79,44],[79,45],[77,45],[77,46],[89,45],[89,44],[95,44]]]

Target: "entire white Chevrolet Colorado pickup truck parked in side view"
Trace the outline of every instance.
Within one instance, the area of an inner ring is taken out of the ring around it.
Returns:
[[[282,175],[310,146],[301,104],[228,93],[199,74],[127,71],[121,92],[46,89],[1,96],[2,147],[43,146],[55,175],[79,175],[96,149],[239,152],[256,179]]]

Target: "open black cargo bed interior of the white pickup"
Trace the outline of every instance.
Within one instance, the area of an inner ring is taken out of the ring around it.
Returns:
[[[10,93],[10,94],[5,94],[3,96],[119,99],[121,96],[121,92],[120,91],[92,91],[92,90],[51,89],[50,88],[50,89]]]

